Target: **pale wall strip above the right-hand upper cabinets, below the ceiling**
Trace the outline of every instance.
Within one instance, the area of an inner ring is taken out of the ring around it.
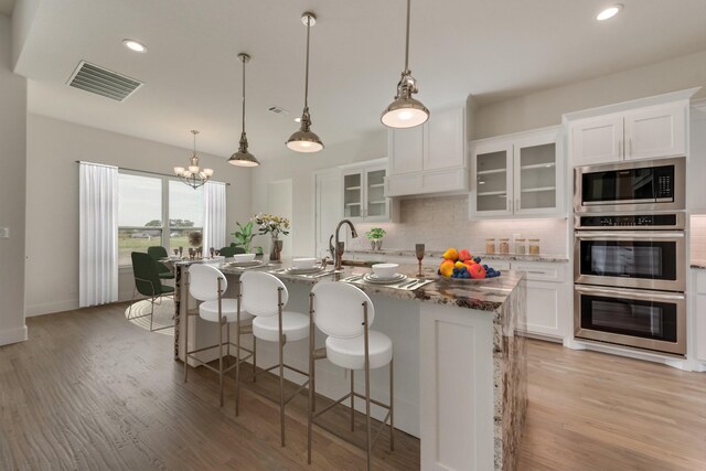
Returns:
[[[473,139],[559,125],[565,113],[698,86],[705,88],[694,98],[706,97],[706,50],[481,106]]]

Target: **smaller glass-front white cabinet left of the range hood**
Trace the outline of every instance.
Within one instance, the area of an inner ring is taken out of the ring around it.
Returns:
[[[364,221],[386,221],[389,218],[389,203],[385,197],[386,172],[386,164],[344,170],[344,217]]]

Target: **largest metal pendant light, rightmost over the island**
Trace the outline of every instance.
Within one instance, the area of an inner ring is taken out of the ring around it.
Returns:
[[[395,100],[385,108],[381,116],[383,125],[389,128],[414,128],[429,119],[429,110],[421,101],[411,96],[417,93],[417,81],[409,71],[409,3],[407,0],[407,39],[405,45],[405,69],[397,84]]]

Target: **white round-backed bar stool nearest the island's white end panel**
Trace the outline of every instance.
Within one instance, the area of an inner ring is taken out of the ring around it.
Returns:
[[[352,285],[322,281],[317,283],[310,295],[310,331],[309,331],[309,417],[307,460],[311,463],[311,432],[313,419],[333,406],[351,398],[351,431],[354,429],[355,397],[365,399],[367,425],[367,469],[371,469],[373,443],[379,437],[389,419],[389,449],[395,449],[395,426],[393,407],[393,341],[382,332],[368,328],[375,320],[375,308],[368,296]],[[314,325],[328,335],[325,347],[315,349],[313,342]],[[351,392],[314,414],[315,376],[314,362],[329,358],[334,365],[351,370]],[[371,399],[371,370],[389,365],[389,404]],[[365,372],[365,395],[355,393],[354,371]],[[372,439],[371,404],[387,409],[381,428]]]

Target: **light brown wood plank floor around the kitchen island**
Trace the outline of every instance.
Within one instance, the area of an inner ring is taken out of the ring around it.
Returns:
[[[0,347],[1,470],[365,468],[361,449],[321,429],[307,465],[303,396],[288,408],[281,448],[277,406],[250,385],[235,418],[232,382],[217,407],[215,376],[199,368],[183,384],[172,339],[124,312],[118,304],[31,318],[30,341]],[[520,470],[706,470],[706,374],[538,341],[528,354]],[[274,392],[264,379],[257,388]],[[417,439],[397,432],[394,452],[386,439],[374,469],[419,468]]]

